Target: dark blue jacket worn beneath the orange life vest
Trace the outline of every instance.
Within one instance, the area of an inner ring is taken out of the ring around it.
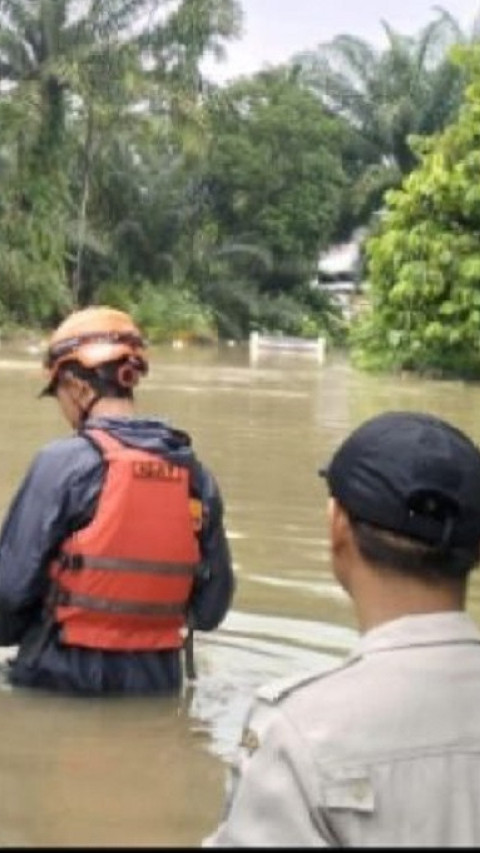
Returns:
[[[153,418],[91,418],[86,427],[191,467],[192,496],[208,507],[200,534],[208,571],[196,581],[191,618],[197,630],[216,628],[230,607],[234,577],[221,494],[190,437]],[[93,517],[104,471],[100,453],[81,434],[57,439],[37,454],[8,510],[0,534],[0,645],[19,645],[9,673],[15,684],[84,693],[165,692],[181,685],[178,650],[63,646],[45,608],[48,563],[65,537]]]

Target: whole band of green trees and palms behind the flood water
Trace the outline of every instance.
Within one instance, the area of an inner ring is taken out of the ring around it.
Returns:
[[[215,85],[202,63],[241,27],[236,0],[0,0],[0,325],[48,328],[109,302],[152,340],[281,329],[351,343],[367,366],[384,362],[385,348],[401,354],[392,366],[441,368],[443,320],[413,321],[401,293],[413,304],[413,291],[435,290],[425,269],[448,227],[423,238],[433,248],[413,250],[407,237],[426,208],[411,196],[432,158],[438,170],[438,146],[453,145],[443,134],[458,133],[466,157],[475,145],[474,130],[465,140],[475,26],[462,32],[437,7],[414,36],[384,23],[382,49],[339,35]],[[446,181],[451,162],[445,155]],[[436,209],[431,200],[431,229]],[[370,309],[347,329],[312,281],[319,253],[358,225],[372,235]],[[402,229],[407,242],[392,248]],[[461,312],[442,310],[452,330]],[[430,343],[419,347],[424,327]],[[459,338],[465,348],[463,326]],[[453,366],[466,360],[455,350]]]

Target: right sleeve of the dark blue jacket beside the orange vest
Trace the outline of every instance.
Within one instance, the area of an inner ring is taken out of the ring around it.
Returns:
[[[231,605],[235,579],[224,528],[222,496],[215,478],[199,463],[194,472],[194,492],[203,506],[202,571],[190,599],[190,619],[197,630],[211,631],[220,624]]]

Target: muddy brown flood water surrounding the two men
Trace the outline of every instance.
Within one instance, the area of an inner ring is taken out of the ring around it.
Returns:
[[[38,356],[0,347],[0,515],[34,453],[68,428],[37,400]],[[339,356],[158,350],[138,410],[190,432],[215,473],[237,576],[232,612],[196,640],[178,699],[75,699],[0,685],[0,846],[197,846],[216,825],[257,685],[321,669],[354,642],[329,570],[316,475],[385,409],[443,416],[480,442],[480,385],[366,376]],[[480,624],[480,582],[469,608]]]

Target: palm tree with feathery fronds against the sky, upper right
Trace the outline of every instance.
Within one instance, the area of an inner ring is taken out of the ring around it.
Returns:
[[[409,137],[441,130],[460,103],[463,76],[449,49],[475,40],[479,27],[475,23],[467,36],[450,13],[440,6],[435,11],[435,20],[415,36],[382,22],[384,49],[339,35],[293,60],[327,109],[344,120],[353,173],[361,180],[358,195],[371,193],[374,205],[415,166]],[[371,209],[371,199],[364,195],[363,202]]]

